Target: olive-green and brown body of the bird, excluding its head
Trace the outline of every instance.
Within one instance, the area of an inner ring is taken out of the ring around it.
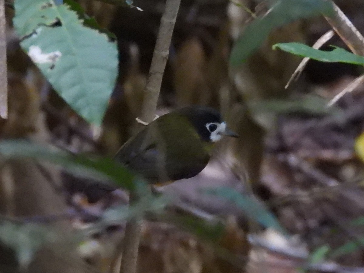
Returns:
[[[150,183],[165,183],[195,176],[209,154],[188,120],[166,114],[127,141],[116,159]]]

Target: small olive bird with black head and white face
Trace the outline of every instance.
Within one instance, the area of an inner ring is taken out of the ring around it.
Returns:
[[[189,106],[147,124],[120,148],[115,160],[148,183],[165,185],[201,172],[223,135],[238,137],[218,111]]]

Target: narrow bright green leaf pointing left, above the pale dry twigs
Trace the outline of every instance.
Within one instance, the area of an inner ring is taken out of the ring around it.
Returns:
[[[364,57],[352,54],[343,48],[335,48],[333,51],[317,50],[301,43],[274,44],[273,49],[281,49],[294,55],[308,57],[321,62],[340,62],[364,65]]]

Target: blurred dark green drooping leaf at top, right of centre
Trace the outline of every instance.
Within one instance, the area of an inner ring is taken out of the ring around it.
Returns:
[[[331,15],[334,12],[331,2],[325,0],[275,0],[270,3],[269,12],[254,19],[234,44],[230,54],[230,64],[233,66],[245,62],[273,29],[298,19],[318,16],[321,13]]]

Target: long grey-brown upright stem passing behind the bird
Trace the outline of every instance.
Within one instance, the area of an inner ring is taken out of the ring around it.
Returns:
[[[161,90],[163,73],[169,56],[169,47],[180,3],[181,0],[167,0],[162,15],[140,116],[141,120],[148,123],[153,120],[157,108],[159,91]],[[138,197],[130,198],[130,201],[131,203],[137,202]],[[130,219],[126,224],[120,273],[136,272],[141,229],[141,219]]]

